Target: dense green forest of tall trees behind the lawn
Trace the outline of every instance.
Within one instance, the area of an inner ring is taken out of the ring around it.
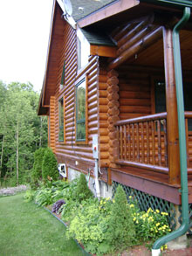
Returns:
[[[29,183],[36,149],[47,146],[47,118],[38,116],[31,83],[0,80],[0,187]]]

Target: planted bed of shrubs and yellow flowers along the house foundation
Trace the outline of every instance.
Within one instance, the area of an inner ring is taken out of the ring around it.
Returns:
[[[28,199],[30,192],[28,192]],[[53,204],[53,211],[68,224],[66,235],[83,244],[86,252],[103,255],[124,250],[128,246],[146,243],[170,232],[166,212],[148,209],[140,211],[134,197],[129,197],[121,186],[113,200],[93,197],[81,175],[72,183],[50,183],[33,196],[40,205]],[[62,200],[61,200],[62,199]]]

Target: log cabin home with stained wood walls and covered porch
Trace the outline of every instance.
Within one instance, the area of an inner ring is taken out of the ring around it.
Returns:
[[[189,1],[53,2],[38,114],[58,163],[68,177],[98,180],[101,196],[122,184],[141,208],[168,211],[174,227],[182,199],[172,35]],[[191,17],[180,47],[191,215]]]

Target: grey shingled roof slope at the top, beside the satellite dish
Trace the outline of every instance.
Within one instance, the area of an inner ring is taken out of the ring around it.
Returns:
[[[72,17],[75,21],[88,16],[96,10],[99,10],[117,0],[71,0]]]

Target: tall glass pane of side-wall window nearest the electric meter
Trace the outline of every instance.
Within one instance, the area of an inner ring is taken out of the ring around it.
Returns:
[[[76,141],[86,142],[86,80],[76,86]]]

